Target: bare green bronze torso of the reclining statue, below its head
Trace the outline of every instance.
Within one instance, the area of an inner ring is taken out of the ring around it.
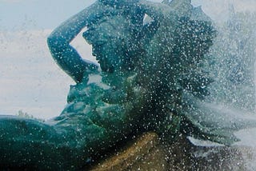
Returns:
[[[99,72],[90,74],[88,82],[70,85],[68,103],[55,121],[57,126],[70,130],[66,133],[68,136],[73,134],[80,139],[81,145],[117,133],[117,137],[110,138],[115,141],[136,129],[145,113],[146,101],[146,91],[137,82],[134,72]]]

